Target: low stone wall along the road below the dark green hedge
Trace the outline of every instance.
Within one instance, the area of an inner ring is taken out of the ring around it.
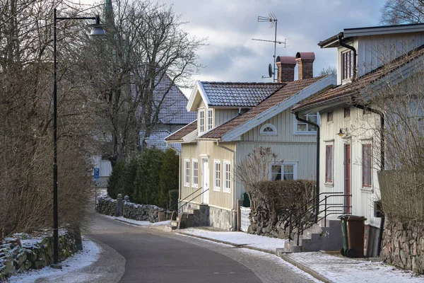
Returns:
[[[117,200],[113,200],[110,197],[100,197],[96,204],[96,211],[101,214],[116,216]],[[170,215],[172,214],[170,210],[162,209],[152,204],[134,204],[129,201],[123,201],[122,216],[124,218],[158,222],[159,212],[169,215],[168,217],[165,216],[165,219],[170,219]]]

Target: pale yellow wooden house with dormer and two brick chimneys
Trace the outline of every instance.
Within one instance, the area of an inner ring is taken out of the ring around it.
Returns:
[[[256,146],[278,154],[274,177],[314,179],[316,129],[290,112],[296,103],[336,85],[335,75],[313,78],[313,62],[312,52],[278,57],[277,83],[196,83],[187,111],[197,111],[197,120],[165,139],[182,143],[179,200],[189,202],[184,209],[207,205],[207,224],[235,230],[237,200],[245,191],[232,176]]]

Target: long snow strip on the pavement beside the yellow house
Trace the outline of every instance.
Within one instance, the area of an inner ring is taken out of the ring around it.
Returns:
[[[210,231],[206,229],[184,229],[186,235],[201,236],[216,241],[233,243],[235,245],[249,246],[275,253],[276,248],[284,248],[285,240],[252,235],[244,232]]]

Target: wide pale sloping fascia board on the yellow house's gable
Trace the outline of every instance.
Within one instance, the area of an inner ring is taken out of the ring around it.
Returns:
[[[240,125],[239,127],[232,129],[230,132],[223,135],[222,141],[234,141],[242,134],[245,134],[245,132],[249,131],[250,129],[253,129],[254,127],[257,127],[258,125],[261,125],[261,123],[265,122],[266,120],[269,120],[275,115],[278,115],[284,110],[287,110],[296,103],[305,100],[306,98],[312,96],[314,93],[322,91],[324,88],[328,88],[329,86],[336,85],[337,76],[335,74],[330,74],[329,76],[326,76],[323,79],[312,83],[310,86],[303,88],[302,91],[299,91],[294,96],[290,96],[290,98],[287,98],[286,100],[281,101],[281,103],[278,103],[277,105],[274,105],[268,110],[262,112],[261,114],[257,115],[257,117],[254,117],[252,120],[249,120],[244,124]]]

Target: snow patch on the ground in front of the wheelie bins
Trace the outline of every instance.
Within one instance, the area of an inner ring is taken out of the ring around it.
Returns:
[[[384,282],[418,283],[424,282],[424,276],[415,276],[413,272],[400,270],[383,262],[371,262],[366,259],[350,259],[323,253],[292,253],[288,255],[302,265],[310,267],[333,282]]]

